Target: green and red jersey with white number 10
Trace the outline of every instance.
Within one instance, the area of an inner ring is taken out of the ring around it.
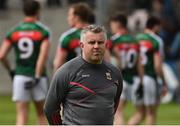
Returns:
[[[138,42],[129,34],[116,34],[112,36],[112,51],[119,57],[123,79],[132,84],[134,76],[138,75],[137,63],[140,51]]]

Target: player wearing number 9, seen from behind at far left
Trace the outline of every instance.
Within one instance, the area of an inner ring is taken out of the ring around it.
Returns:
[[[0,49],[0,60],[8,71],[11,65],[7,54],[11,47],[16,56],[15,76],[13,78],[13,97],[16,103],[16,125],[28,121],[29,103],[33,100],[38,124],[47,123],[43,113],[44,99],[48,90],[46,60],[49,50],[49,30],[39,22],[40,3],[34,0],[23,5],[25,18],[6,35]]]

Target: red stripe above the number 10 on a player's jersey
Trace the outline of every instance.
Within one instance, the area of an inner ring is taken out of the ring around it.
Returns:
[[[135,50],[139,51],[139,45],[138,44],[133,44],[133,43],[117,44],[117,45],[115,45],[115,48],[117,48],[118,50],[135,49]]]

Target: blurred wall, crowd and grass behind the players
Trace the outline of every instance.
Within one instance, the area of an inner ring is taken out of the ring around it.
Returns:
[[[22,4],[25,0],[0,0],[0,43],[5,34],[24,17]],[[66,21],[68,7],[72,3],[87,2],[96,14],[96,23],[109,30],[109,16],[115,11],[128,14],[128,27],[132,34],[142,32],[149,15],[162,21],[160,37],[164,40],[164,66],[168,94],[162,98],[166,103],[158,112],[158,124],[180,124],[180,0],[38,0],[41,2],[41,21],[52,32],[48,59],[48,75],[51,79],[53,59],[60,35],[69,26]],[[13,51],[8,56],[14,64]],[[0,65],[0,124],[15,124],[15,107],[11,102],[12,84],[7,71]],[[5,104],[6,103],[6,104]],[[133,107],[126,112],[128,117]],[[166,110],[166,111],[165,111]],[[8,114],[9,112],[9,114]],[[14,114],[13,114],[14,112]],[[34,124],[32,110],[29,124]],[[4,117],[4,118],[3,118]]]

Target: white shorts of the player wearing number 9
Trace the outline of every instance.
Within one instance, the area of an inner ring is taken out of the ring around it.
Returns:
[[[13,80],[13,101],[41,101],[44,100],[48,91],[47,77],[40,78],[39,83],[32,89],[25,89],[25,82],[32,80],[32,77],[15,75]]]

